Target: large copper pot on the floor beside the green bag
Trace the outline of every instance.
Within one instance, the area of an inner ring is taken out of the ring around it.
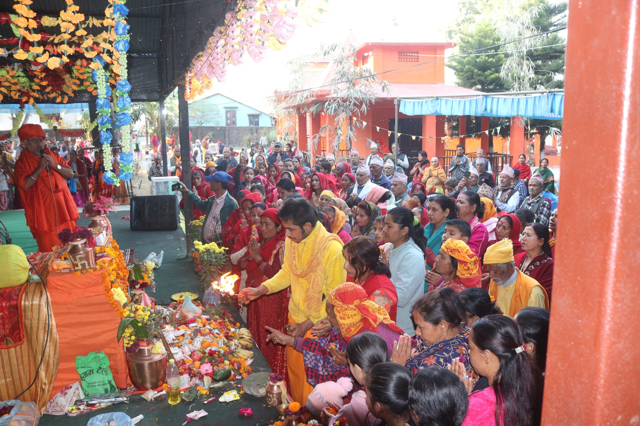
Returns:
[[[147,339],[138,339],[138,344],[138,351],[126,354],[129,377],[139,390],[159,388],[166,379],[166,352],[151,353],[153,345]]]

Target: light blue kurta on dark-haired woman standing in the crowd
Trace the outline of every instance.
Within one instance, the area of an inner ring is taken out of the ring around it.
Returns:
[[[409,239],[389,252],[391,281],[396,285],[398,311],[396,324],[410,336],[415,334],[411,316],[413,302],[424,294],[424,253]]]

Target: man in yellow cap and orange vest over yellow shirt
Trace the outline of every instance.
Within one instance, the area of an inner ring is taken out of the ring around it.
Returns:
[[[538,281],[520,272],[513,259],[513,244],[505,238],[490,245],[484,254],[484,267],[489,271],[489,294],[502,314],[515,317],[525,306],[549,308],[549,298]]]

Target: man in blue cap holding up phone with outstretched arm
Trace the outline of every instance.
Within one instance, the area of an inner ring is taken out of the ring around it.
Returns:
[[[208,200],[201,200],[198,197],[197,192],[189,191],[184,185],[180,183],[180,192],[188,193],[194,206],[200,211],[206,211],[207,215],[204,218],[204,225],[202,227],[202,234],[200,238],[206,243],[215,242],[220,245],[222,242],[222,227],[227,222],[227,218],[232,211],[238,208],[238,203],[228,193],[228,185],[231,181],[231,176],[225,172],[215,172],[211,181],[211,190],[216,193],[215,197],[211,197]]]

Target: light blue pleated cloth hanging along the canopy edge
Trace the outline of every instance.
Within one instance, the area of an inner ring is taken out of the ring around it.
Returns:
[[[524,117],[561,120],[564,93],[532,96],[401,99],[399,111],[408,116]]]

